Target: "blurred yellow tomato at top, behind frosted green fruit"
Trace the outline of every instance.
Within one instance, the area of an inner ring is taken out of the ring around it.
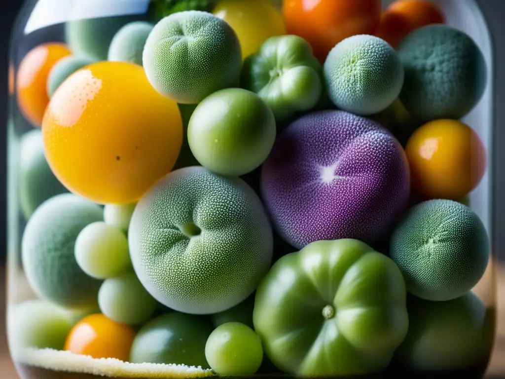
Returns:
[[[243,59],[256,53],[267,38],[286,33],[281,12],[271,0],[221,0],[213,13],[235,30]]]

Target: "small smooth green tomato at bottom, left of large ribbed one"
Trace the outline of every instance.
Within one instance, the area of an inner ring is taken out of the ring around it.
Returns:
[[[226,322],[209,336],[205,357],[218,374],[253,375],[263,360],[261,339],[245,324]]]

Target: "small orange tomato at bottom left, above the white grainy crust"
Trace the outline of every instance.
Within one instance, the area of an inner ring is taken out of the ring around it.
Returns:
[[[103,314],[84,317],[70,330],[64,349],[95,359],[116,358],[128,362],[135,330]]]

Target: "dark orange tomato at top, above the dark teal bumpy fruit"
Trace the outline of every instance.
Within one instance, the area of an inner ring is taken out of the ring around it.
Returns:
[[[376,35],[396,48],[414,30],[444,22],[445,16],[436,4],[427,0],[397,0],[382,13]]]

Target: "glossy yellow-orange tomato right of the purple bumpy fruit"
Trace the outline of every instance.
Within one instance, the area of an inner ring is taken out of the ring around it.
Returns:
[[[458,120],[435,120],[410,137],[412,187],[425,199],[460,200],[481,181],[486,150],[479,135]]]

